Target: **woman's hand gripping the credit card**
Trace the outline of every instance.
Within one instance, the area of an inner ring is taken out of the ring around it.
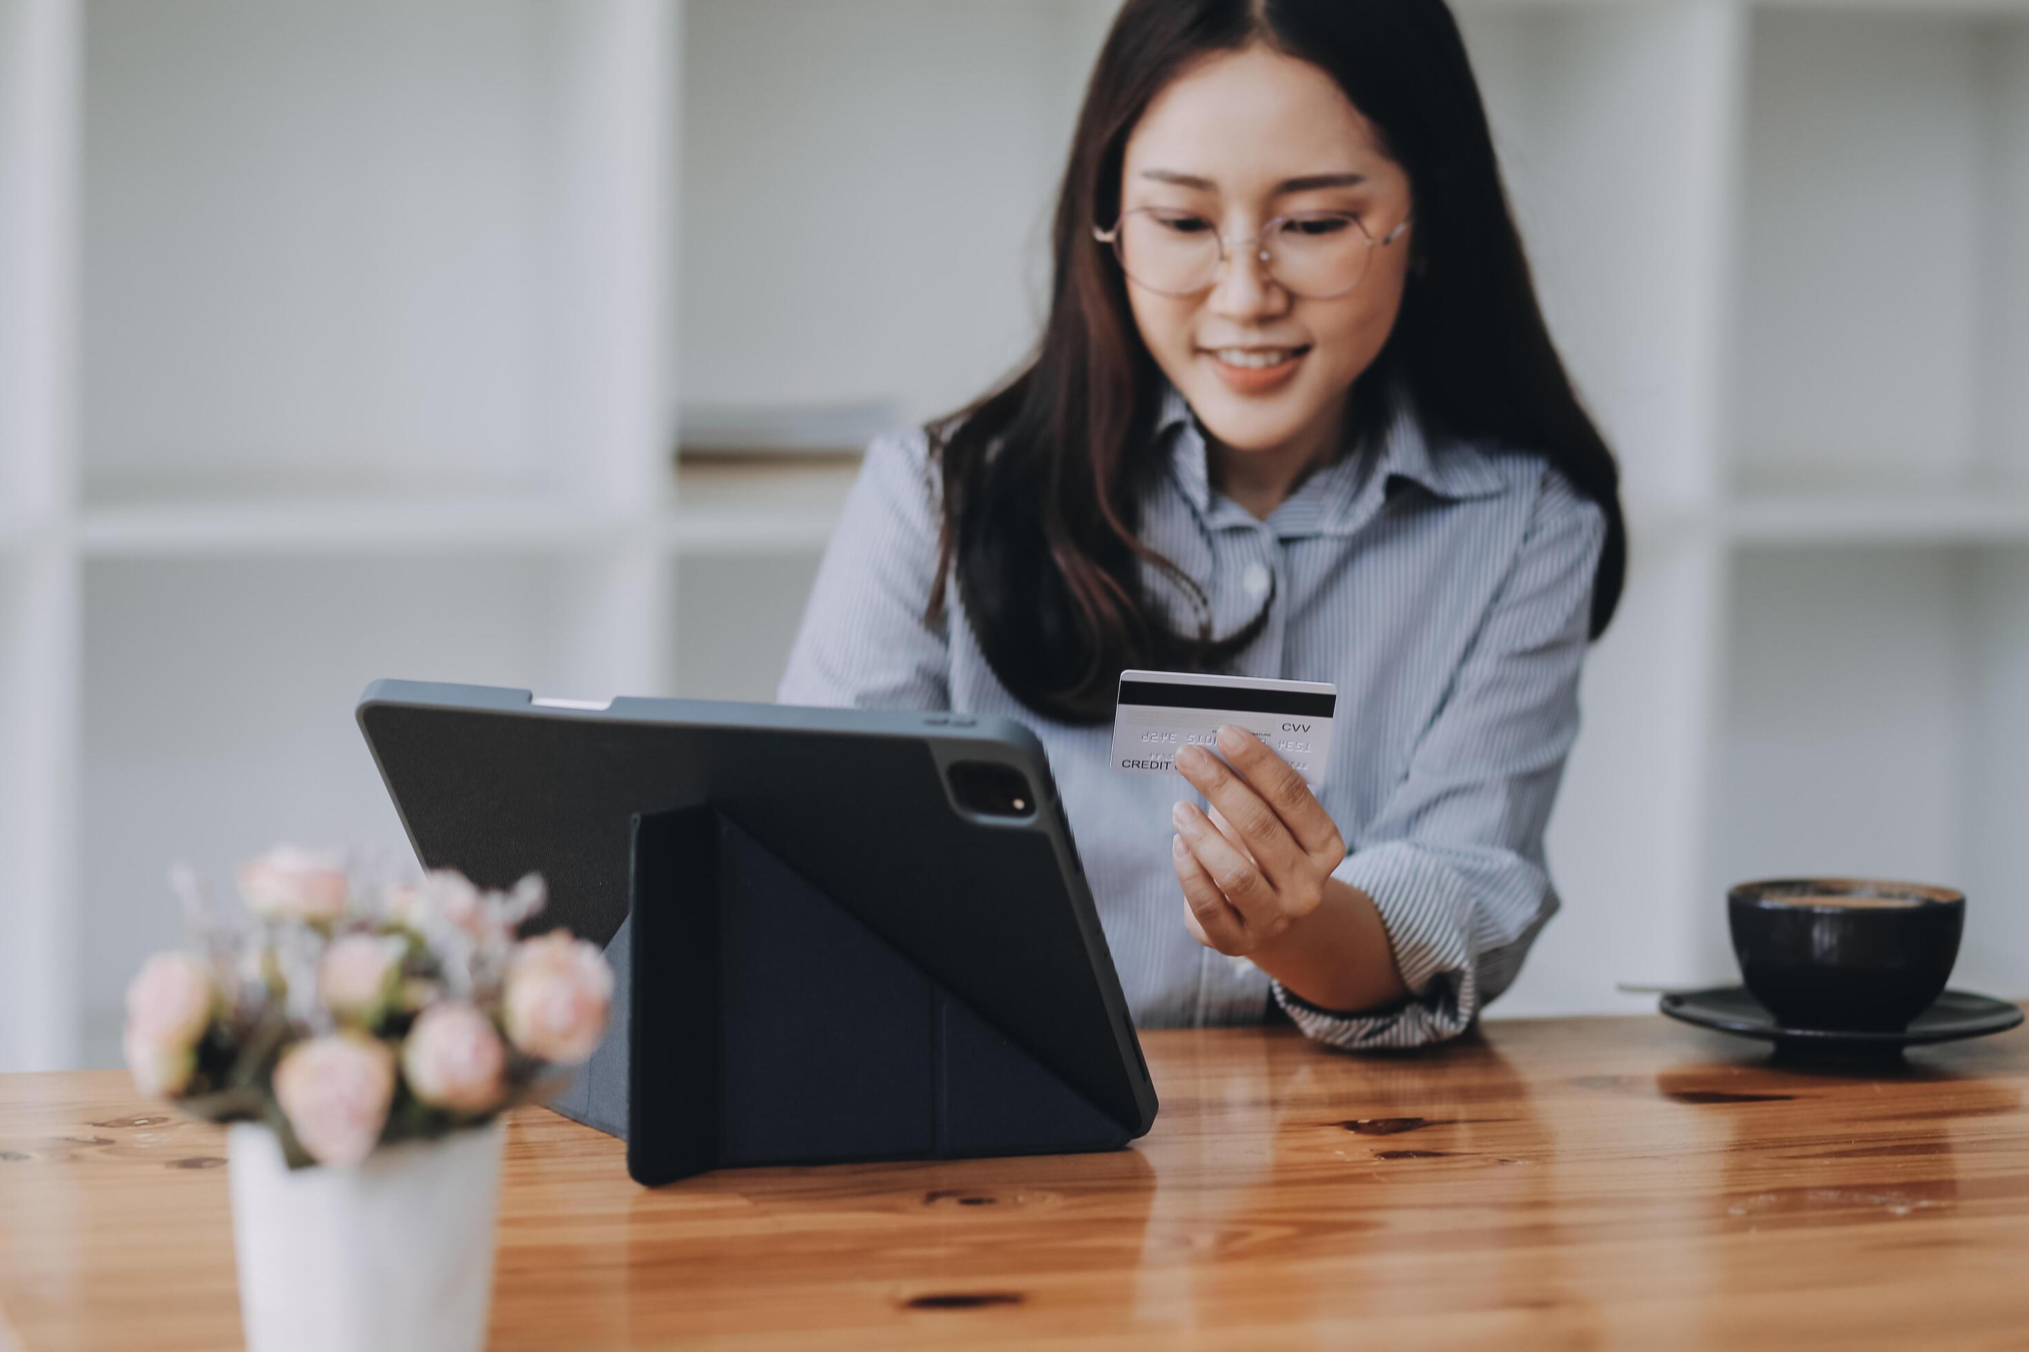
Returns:
[[[1252,732],[1219,728],[1219,752],[1223,762],[1201,746],[1177,752],[1211,817],[1177,805],[1171,861],[1197,943],[1244,957],[1319,908],[1345,839],[1303,776]]]

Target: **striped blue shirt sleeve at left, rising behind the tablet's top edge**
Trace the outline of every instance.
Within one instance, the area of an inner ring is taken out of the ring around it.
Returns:
[[[948,709],[948,624],[923,618],[937,580],[937,486],[921,432],[877,438],[846,493],[775,699]]]

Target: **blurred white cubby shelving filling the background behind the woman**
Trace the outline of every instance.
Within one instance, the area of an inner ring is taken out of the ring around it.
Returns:
[[[0,0],[0,1068],[118,1060],[170,859],[408,857],[373,677],[769,699],[858,450],[1037,332],[1112,10]],[[1459,12],[1633,531],[1493,1013],[1796,872],[2029,993],[2029,4]]]

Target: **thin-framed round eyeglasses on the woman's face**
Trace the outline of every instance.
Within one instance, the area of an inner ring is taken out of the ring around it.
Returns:
[[[1301,211],[1276,217],[1258,235],[1226,239],[1205,217],[1171,207],[1136,207],[1112,229],[1092,229],[1114,245],[1120,270],[1163,296],[1195,296],[1209,288],[1226,261],[1228,245],[1258,245],[1258,257],[1276,286],[1305,300],[1333,300],[1359,286],[1376,245],[1394,243],[1408,219],[1382,239],[1368,233],[1349,211]]]

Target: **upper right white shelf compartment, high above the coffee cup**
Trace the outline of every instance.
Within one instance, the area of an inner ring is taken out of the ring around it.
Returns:
[[[1733,480],[2029,491],[2029,12],[1755,12]]]

